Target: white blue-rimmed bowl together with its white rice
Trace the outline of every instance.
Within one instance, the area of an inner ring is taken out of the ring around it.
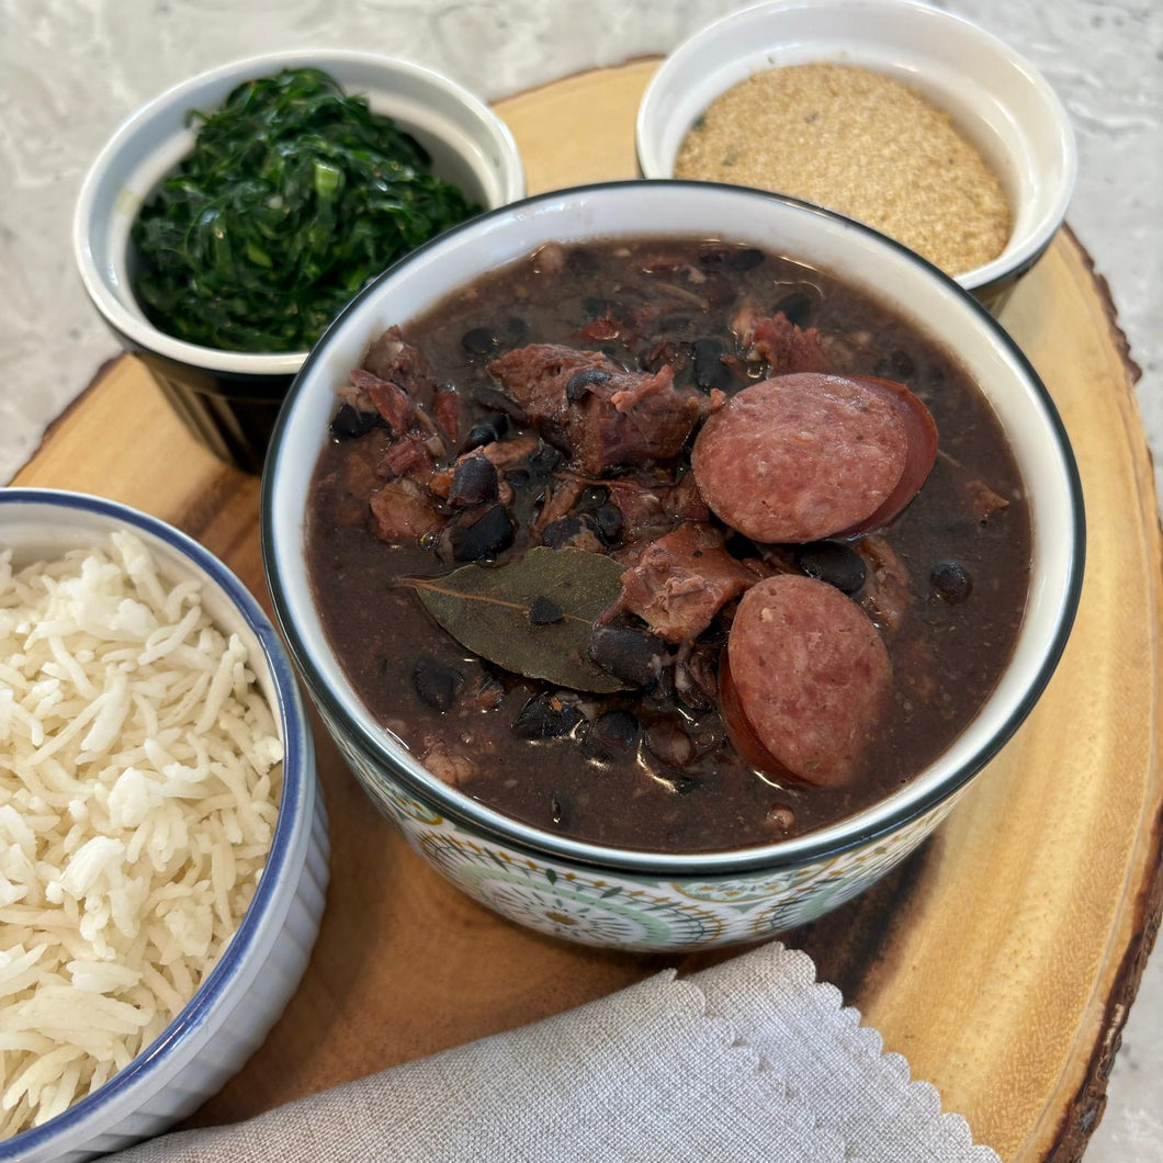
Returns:
[[[185,534],[0,490],[0,1161],[156,1135],[262,1044],[327,886],[273,627]]]

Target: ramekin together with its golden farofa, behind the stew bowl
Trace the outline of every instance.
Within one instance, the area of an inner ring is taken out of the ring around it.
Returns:
[[[679,45],[638,106],[648,178],[757,186],[911,247],[991,309],[1073,192],[1062,102],[1001,41],[911,0],[789,0]]]

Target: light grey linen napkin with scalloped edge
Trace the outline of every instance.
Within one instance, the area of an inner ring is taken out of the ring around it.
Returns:
[[[964,1119],[778,942],[117,1163],[986,1163]]]

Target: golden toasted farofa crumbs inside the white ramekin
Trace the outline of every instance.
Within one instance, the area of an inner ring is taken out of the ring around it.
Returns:
[[[948,114],[854,65],[786,65],[729,88],[687,134],[675,177],[827,206],[950,274],[997,258],[1009,238],[1001,181]]]

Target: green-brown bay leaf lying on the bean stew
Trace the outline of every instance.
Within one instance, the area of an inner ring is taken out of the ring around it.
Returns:
[[[622,592],[625,566],[605,554],[538,545],[505,565],[465,565],[438,578],[409,578],[424,608],[473,654],[576,691],[625,690],[590,662],[590,632]],[[555,602],[559,620],[535,625],[538,598]]]

